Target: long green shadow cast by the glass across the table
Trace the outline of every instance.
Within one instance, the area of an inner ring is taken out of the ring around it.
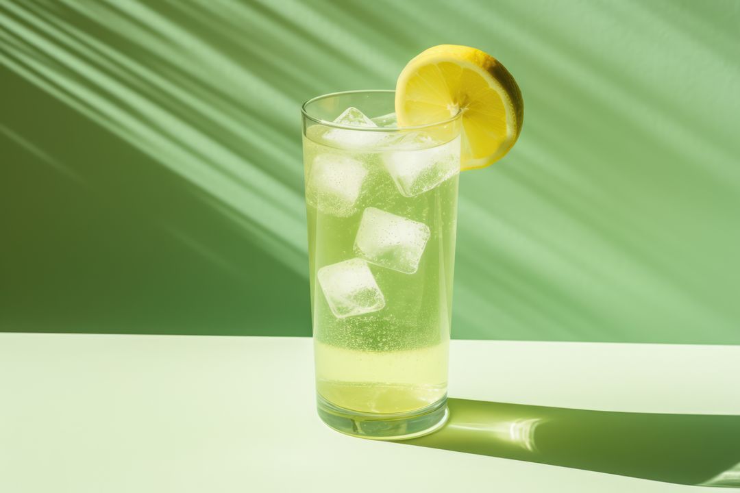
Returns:
[[[740,488],[740,416],[605,412],[451,398],[410,445],[686,485]]]

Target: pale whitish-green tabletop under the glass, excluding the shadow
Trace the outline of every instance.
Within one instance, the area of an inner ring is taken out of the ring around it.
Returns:
[[[0,492],[719,491],[340,435],[312,364],[302,338],[0,334]],[[740,347],[453,341],[450,372],[457,398],[740,415]]]

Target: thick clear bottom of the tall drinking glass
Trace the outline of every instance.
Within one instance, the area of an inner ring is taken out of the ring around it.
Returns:
[[[374,414],[334,406],[316,395],[321,420],[337,432],[371,440],[406,440],[440,429],[449,416],[447,396],[422,409],[394,414]]]

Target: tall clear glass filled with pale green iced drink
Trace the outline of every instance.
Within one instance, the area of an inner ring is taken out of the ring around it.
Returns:
[[[303,104],[317,407],[363,438],[447,417],[460,115],[393,112],[393,91]]]

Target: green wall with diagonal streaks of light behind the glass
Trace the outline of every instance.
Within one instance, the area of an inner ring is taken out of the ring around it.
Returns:
[[[454,336],[740,343],[740,2],[0,1],[0,330],[308,335],[299,106],[434,44],[519,81]]]

